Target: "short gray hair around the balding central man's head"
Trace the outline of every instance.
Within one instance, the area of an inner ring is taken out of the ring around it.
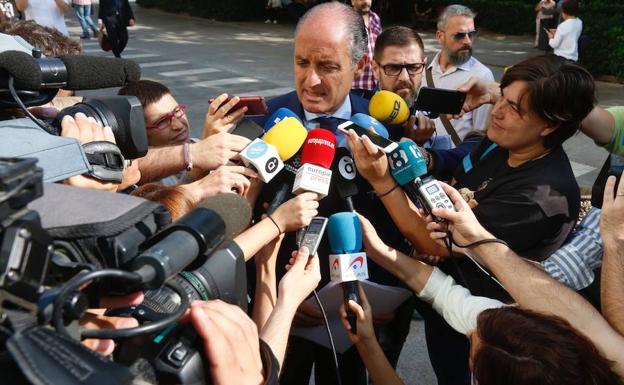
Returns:
[[[368,33],[366,32],[366,24],[364,24],[362,15],[357,13],[352,7],[335,1],[312,7],[297,23],[295,36],[297,36],[301,26],[304,25],[310,17],[323,11],[331,11],[332,14],[339,17],[339,20],[344,20],[346,22],[345,28],[349,39],[351,64],[355,66],[360,59],[362,59],[368,47]]]

